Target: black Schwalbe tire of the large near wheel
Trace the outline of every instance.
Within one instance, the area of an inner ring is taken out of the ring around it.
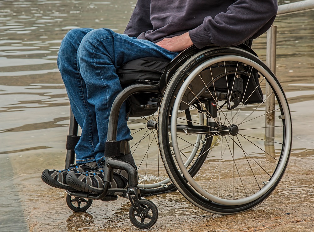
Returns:
[[[213,51],[212,49],[209,49],[211,51]],[[238,49],[238,48],[232,48],[232,47],[225,47],[225,48],[217,48],[217,49],[214,49],[214,50],[219,50],[221,52],[219,52],[218,54],[213,54],[213,55],[208,55],[208,57],[205,59],[198,59],[196,60],[196,58],[200,57],[202,54],[205,54],[206,52],[208,52],[208,50],[204,50],[202,52],[199,52],[198,54],[195,54],[193,56],[193,58],[191,57],[189,59],[189,63],[188,64],[191,64],[193,62],[193,65],[191,65],[190,67],[188,67],[186,70],[185,67],[181,66],[179,70],[177,70],[176,73],[179,73],[180,70],[184,70],[184,73],[187,73],[189,70],[192,69],[192,67],[195,67],[197,64],[199,63],[203,63],[205,62],[206,60],[208,59],[211,59],[213,57],[216,57],[216,56],[221,56],[221,55],[237,55],[237,56],[242,56],[242,57],[246,57],[248,59],[252,59],[254,61],[256,61],[257,63],[259,63],[266,71],[268,71],[268,73],[272,74],[272,77],[273,79],[276,81],[276,83],[279,85],[279,88],[281,90],[281,93],[284,95],[284,91],[281,87],[281,85],[279,84],[279,81],[277,80],[277,78],[273,75],[272,71],[263,63],[261,62],[257,56],[253,55],[253,54],[250,54],[249,52],[246,52],[242,49]],[[174,75],[175,76],[175,75]],[[184,75],[181,75],[181,77],[183,78]],[[177,78],[177,80],[174,80],[172,86],[177,86],[178,83],[181,82],[181,79],[180,78]],[[170,82],[169,82],[170,83]],[[168,85],[169,85],[168,83]],[[167,88],[168,88],[168,85],[167,85]],[[172,87],[172,89],[168,90],[168,92],[170,93],[173,93],[174,90],[176,89],[176,87]],[[276,93],[275,93],[276,94]],[[163,106],[163,108],[170,108],[170,102],[171,101],[166,101],[164,98],[165,98],[165,93],[163,95],[163,101],[165,102],[165,105],[161,105]],[[169,95],[166,95],[166,97],[168,98],[169,100]],[[170,99],[172,98],[173,96],[170,97]],[[276,95],[277,97],[277,95]],[[286,101],[286,104],[287,104],[287,99],[286,99],[286,96],[284,95],[284,99]],[[162,101],[162,102],[163,102]],[[280,102],[279,102],[279,105],[280,105]],[[287,104],[288,105],[288,104]],[[288,106],[289,107],[289,106]],[[162,115],[161,115],[161,118],[162,119],[165,119],[167,120],[167,117],[169,115],[169,112],[168,111],[165,111],[163,110],[162,111]],[[289,110],[289,113],[290,113],[290,110]],[[160,118],[160,119],[161,119]],[[291,118],[291,116],[290,116]],[[162,128],[162,125],[164,123],[161,122],[161,127],[158,126],[159,130]],[[291,128],[292,128],[292,125],[290,125]],[[160,131],[160,133],[168,133],[167,128],[163,128],[164,130],[163,131]],[[284,131],[284,134],[285,134],[285,131]],[[290,140],[292,140],[292,138],[290,138]],[[167,144],[169,141],[168,141],[168,137],[167,136],[164,136],[162,137],[162,141],[160,141],[160,143],[162,144]],[[285,143],[285,141],[283,140],[283,142]],[[290,150],[291,150],[291,142],[290,142]],[[165,147],[167,149],[165,149]],[[279,176],[279,179],[277,180],[276,184],[274,184],[263,196],[261,196],[260,198],[257,198],[256,200],[248,203],[248,204],[243,204],[243,205],[235,205],[235,206],[230,206],[230,205],[222,205],[222,204],[218,204],[218,203],[215,203],[213,201],[210,201],[202,196],[200,196],[199,194],[195,193],[194,190],[190,191],[190,186],[188,185],[188,183],[181,177],[181,174],[178,172],[177,168],[176,168],[176,165],[174,163],[174,160],[171,158],[171,151],[170,151],[170,148],[167,147],[167,146],[163,146],[164,148],[164,151],[161,152],[161,155],[162,155],[162,158],[163,158],[163,162],[166,162],[167,164],[165,165],[165,168],[166,168],[166,171],[168,173],[168,175],[170,176],[171,180],[176,182],[176,187],[178,188],[179,192],[184,196],[186,197],[192,204],[196,205],[197,207],[201,208],[201,209],[204,209],[206,211],[209,211],[209,212],[212,212],[212,213],[217,213],[217,214],[233,214],[233,213],[239,213],[239,212],[243,212],[243,211],[247,211],[249,209],[252,209],[254,208],[255,206],[257,206],[258,204],[262,203],[272,192],[273,190],[277,187],[278,183],[280,182],[283,174],[284,174],[284,171],[288,165],[288,162],[285,163],[285,166],[284,166],[284,169],[283,171],[280,173],[280,176]],[[279,162],[278,162],[279,163]],[[277,165],[278,167],[278,165]],[[275,168],[275,170],[277,169],[277,167]],[[171,170],[170,170],[171,169]]]

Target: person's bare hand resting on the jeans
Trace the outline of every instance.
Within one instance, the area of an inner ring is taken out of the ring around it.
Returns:
[[[165,38],[156,44],[171,52],[181,52],[184,49],[192,46],[193,42],[190,39],[189,33],[187,32],[172,38]]]

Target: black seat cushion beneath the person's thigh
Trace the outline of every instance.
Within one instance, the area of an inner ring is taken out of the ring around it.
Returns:
[[[135,83],[138,80],[159,82],[169,59],[145,57],[131,60],[123,64],[118,70],[122,88]]]

